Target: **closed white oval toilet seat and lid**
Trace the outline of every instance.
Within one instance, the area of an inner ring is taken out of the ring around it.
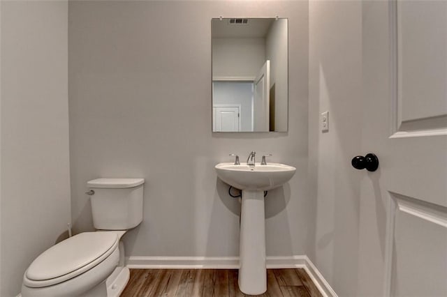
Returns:
[[[98,266],[117,250],[115,232],[85,232],[61,241],[43,252],[29,266],[23,283],[41,288],[60,284]]]

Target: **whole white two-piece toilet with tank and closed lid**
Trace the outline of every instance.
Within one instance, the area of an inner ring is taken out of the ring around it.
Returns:
[[[22,296],[119,296],[129,281],[120,238],[142,221],[142,178],[89,181],[96,232],[75,235],[38,256],[24,273]]]

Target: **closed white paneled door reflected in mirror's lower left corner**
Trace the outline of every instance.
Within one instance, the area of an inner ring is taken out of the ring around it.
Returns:
[[[214,132],[240,131],[240,107],[214,106],[212,110]]]

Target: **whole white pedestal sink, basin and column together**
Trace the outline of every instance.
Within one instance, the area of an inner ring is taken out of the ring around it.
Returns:
[[[263,294],[267,290],[264,191],[287,183],[296,168],[279,163],[254,166],[219,163],[214,168],[222,181],[242,190],[240,290],[249,295]]]

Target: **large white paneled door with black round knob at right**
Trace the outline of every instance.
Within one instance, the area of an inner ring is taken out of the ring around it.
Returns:
[[[447,296],[447,1],[363,6],[359,292]]]

